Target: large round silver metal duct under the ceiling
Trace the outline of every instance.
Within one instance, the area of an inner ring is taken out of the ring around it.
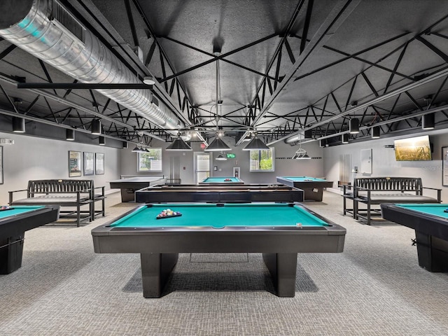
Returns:
[[[10,43],[81,83],[141,84],[135,73],[57,1],[8,0],[8,3],[1,6],[0,36]],[[14,10],[5,10],[8,6]],[[150,90],[97,91],[158,127],[179,128],[179,118],[164,104],[154,104],[156,99]]]

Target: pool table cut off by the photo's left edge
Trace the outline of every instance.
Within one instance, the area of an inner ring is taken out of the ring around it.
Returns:
[[[59,206],[20,206],[0,211],[0,274],[22,267],[25,231],[57,221]]]

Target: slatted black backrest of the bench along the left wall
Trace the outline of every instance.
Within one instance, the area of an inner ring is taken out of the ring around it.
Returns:
[[[93,180],[33,180],[28,181],[28,197],[34,193],[93,193]]]

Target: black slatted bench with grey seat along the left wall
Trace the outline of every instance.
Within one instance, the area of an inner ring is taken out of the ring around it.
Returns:
[[[27,192],[27,198],[14,200],[15,193]],[[28,188],[9,192],[9,204],[13,205],[59,205],[76,210],[61,210],[62,221],[70,219],[80,226],[83,221],[93,221],[98,215],[105,216],[104,186],[94,187],[93,180],[31,180]],[[95,210],[95,202],[102,202],[102,209]],[[88,207],[88,210],[85,208]]]

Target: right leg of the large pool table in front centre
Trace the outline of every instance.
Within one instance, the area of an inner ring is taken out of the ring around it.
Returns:
[[[294,297],[297,253],[263,253],[279,297]]]

